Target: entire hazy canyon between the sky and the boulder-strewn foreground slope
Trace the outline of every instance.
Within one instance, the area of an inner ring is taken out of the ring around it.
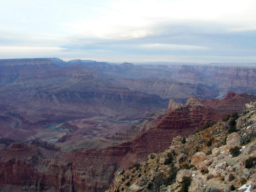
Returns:
[[[246,110],[255,79],[243,66],[0,59],[0,190],[104,191],[176,136]]]

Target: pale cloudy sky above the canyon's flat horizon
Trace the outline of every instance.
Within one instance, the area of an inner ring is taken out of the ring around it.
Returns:
[[[0,58],[256,62],[255,0],[0,0]]]

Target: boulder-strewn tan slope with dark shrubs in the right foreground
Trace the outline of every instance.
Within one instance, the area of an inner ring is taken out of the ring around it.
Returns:
[[[256,102],[246,108],[187,138],[175,137],[164,152],[119,172],[108,191],[256,191]]]

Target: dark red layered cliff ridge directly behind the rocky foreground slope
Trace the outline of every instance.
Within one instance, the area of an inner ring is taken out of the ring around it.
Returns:
[[[256,100],[246,94],[240,96]],[[225,101],[236,97],[230,93]],[[220,120],[226,113],[242,110],[240,103],[232,111],[226,102],[227,111],[222,109],[218,113],[218,108],[210,107],[210,101],[206,103],[208,106],[196,98],[190,98],[185,105],[170,101],[168,112],[158,119],[160,123],[156,127],[131,142],[101,150],[62,153],[44,143],[14,144],[0,151],[0,184],[15,186],[13,191],[24,187],[42,191],[104,191],[112,183],[116,170],[165,150],[177,135],[186,136],[207,122]],[[230,103],[234,106],[234,102]]]

